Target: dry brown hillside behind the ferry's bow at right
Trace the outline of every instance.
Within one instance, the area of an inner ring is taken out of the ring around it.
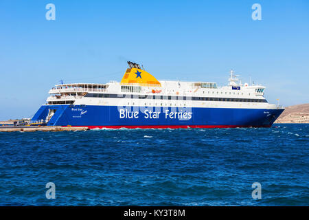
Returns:
[[[275,123],[309,123],[309,103],[286,107]]]

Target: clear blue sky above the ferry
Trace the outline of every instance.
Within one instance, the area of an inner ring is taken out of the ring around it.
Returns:
[[[309,1],[1,0],[0,28],[0,120],[32,116],[59,80],[119,81],[126,61],[159,80],[219,85],[232,68],[269,102],[309,102]]]

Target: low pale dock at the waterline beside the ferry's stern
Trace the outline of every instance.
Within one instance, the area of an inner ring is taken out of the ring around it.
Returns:
[[[87,131],[87,126],[0,126],[0,132]]]

